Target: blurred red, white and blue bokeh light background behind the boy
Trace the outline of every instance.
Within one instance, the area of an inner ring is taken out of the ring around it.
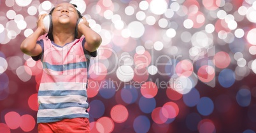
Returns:
[[[254,0],[0,1],[0,132],[37,132],[42,67],[20,44],[62,2],[103,38],[92,132],[256,132]]]

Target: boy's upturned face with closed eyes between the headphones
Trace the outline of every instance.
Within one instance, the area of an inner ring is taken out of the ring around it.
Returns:
[[[68,24],[69,27],[75,27],[77,20],[78,13],[76,8],[69,3],[58,4],[52,12],[53,27],[57,26],[58,24]]]

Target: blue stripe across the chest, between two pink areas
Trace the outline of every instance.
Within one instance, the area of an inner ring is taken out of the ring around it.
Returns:
[[[86,62],[78,62],[78,63],[69,63],[64,65],[52,65],[47,62],[43,62],[43,68],[51,69],[54,71],[64,71],[64,70],[71,70],[77,68],[87,68]]]

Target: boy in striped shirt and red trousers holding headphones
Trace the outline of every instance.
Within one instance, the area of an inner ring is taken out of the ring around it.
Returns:
[[[90,56],[97,56],[101,37],[90,29],[74,4],[58,4],[50,14],[53,28],[49,39],[38,41],[46,31],[43,14],[39,15],[38,28],[20,46],[23,53],[43,64],[38,132],[90,132],[87,70]],[[76,24],[78,18],[83,21]]]

